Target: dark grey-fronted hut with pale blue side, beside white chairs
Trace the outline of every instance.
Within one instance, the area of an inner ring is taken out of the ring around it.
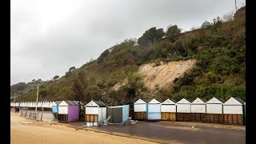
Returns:
[[[110,123],[121,123],[126,122],[129,118],[129,105],[123,106],[108,106],[107,107],[107,117],[111,116]]]

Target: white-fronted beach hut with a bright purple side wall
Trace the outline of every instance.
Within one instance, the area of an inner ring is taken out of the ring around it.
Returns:
[[[79,120],[79,106],[74,101],[62,101],[58,105],[58,121],[74,122]]]

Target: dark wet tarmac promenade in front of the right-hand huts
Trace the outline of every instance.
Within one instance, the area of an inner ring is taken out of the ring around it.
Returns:
[[[160,140],[158,142],[181,143],[246,143],[246,130],[232,130],[208,126],[184,126],[169,122],[137,122],[128,126],[108,125],[93,129],[135,135]]]

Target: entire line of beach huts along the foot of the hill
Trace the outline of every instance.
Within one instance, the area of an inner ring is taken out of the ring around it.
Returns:
[[[11,102],[10,105],[28,109],[35,107],[34,102]],[[45,110],[50,108],[60,122],[79,120],[81,103],[78,101],[38,102],[38,108],[40,106]],[[125,122],[129,118],[130,105],[106,106],[101,101],[91,101],[84,107],[87,125],[97,126],[97,122],[102,122],[109,116],[108,122],[110,123]],[[246,102],[233,97],[226,102],[220,98],[211,98],[209,101],[196,98],[193,102],[185,98],[178,102],[169,98],[164,102],[156,99],[148,102],[138,99],[134,102],[133,119],[245,125]]]

